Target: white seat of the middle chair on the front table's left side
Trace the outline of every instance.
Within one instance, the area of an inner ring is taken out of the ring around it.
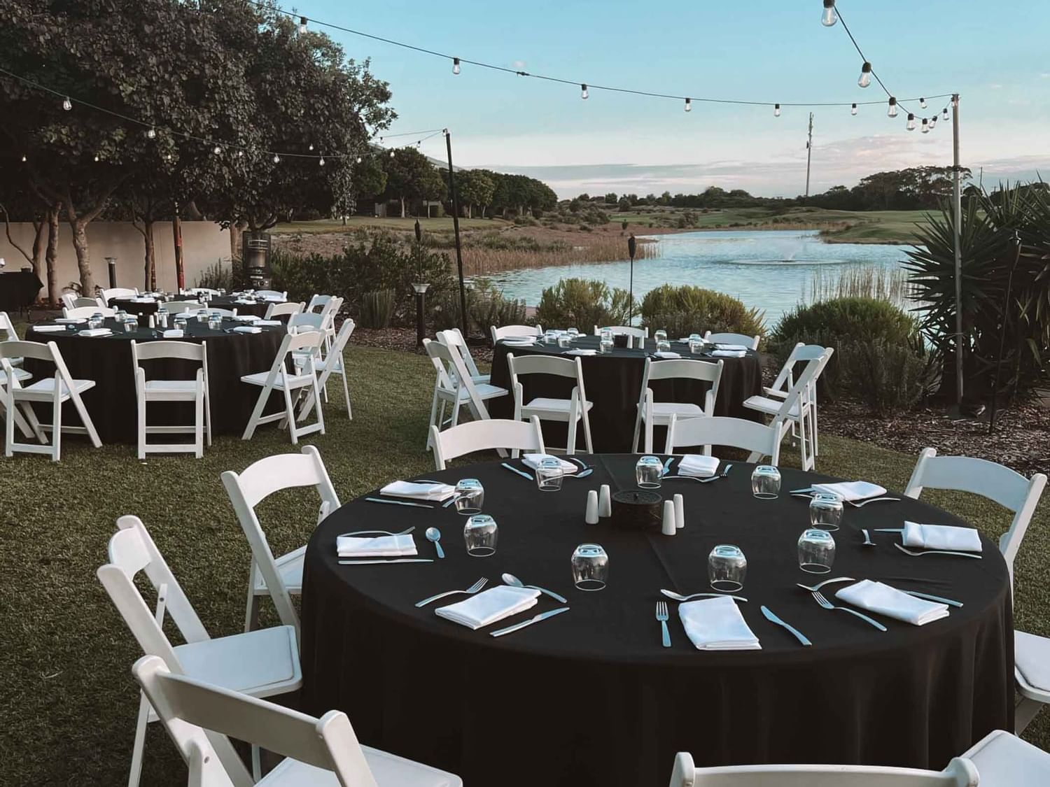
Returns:
[[[186,675],[255,697],[296,687],[302,680],[292,625],[188,642],[174,651]]]

